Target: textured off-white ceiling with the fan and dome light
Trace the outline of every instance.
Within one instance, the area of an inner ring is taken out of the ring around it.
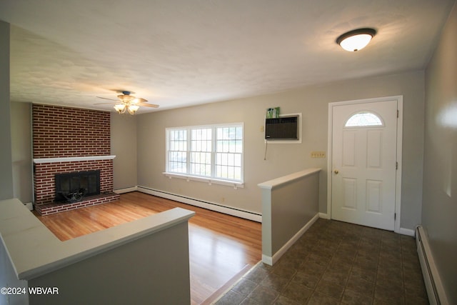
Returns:
[[[111,109],[116,90],[171,109],[423,69],[454,0],[1,0],[11,101]],[[346,31],[378,31],[343,51]]]

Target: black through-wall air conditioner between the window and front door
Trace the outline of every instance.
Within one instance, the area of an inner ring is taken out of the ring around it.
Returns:
[[[274,119],[265,119],[265,139],[268,141],[298,141],[299,133],[298,114],[280,116]]]

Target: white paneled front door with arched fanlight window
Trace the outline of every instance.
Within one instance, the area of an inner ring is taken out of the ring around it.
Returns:
[[[332,109],[331,218],[393,231],[397,100]]]

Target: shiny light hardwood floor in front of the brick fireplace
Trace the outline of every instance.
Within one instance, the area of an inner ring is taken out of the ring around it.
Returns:
[[[189,220],[192,304],[207,304],[261,260],[261,224],[140,192],[85,209],[37,216],[61,241],[173,209]]]

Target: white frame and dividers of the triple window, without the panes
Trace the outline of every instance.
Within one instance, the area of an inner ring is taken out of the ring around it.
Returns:
[[[241,139],[241,179],[240,180],[231,180],[231,179],[220,179],[216,177],[216,140],[217,140],[217,129],[218,128],[231,128],[231,127],[241,127],[242,129],[242,139]],[[198,176],[190,173],[190,164],[191,164],[191,131],[192,129],[212,129],[211,134],[211,176]],[[169,144],[170,144],[170,131],[173,130],[186,130],[187,131],[187,156],[186,156],[186,164],[187,164],[187,173],[174,173],[169,171]],[[226,186],[233,186],[234,189],[238,187],[244,187],[244,124],[241,123],[229,123],[229,124],[211,124],[211,125],[196,125],[196,126],[181,126],[181,127],[169,127],[165,129],[165,171],[164,175],[166,177],[171,178],[178,178],[178,179],[186,179],[186,181],[201,181],[206,182],[207,184],[221,184]]]

